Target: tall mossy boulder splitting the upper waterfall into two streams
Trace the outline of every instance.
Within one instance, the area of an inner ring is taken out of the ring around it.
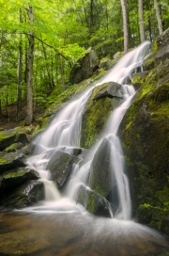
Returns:
[[[120,98],[112,95],[112,85],[115,86],[116,83],[104,83],[94,88],[85,105],[81,129],[82,148],[89,148],[98,140],[106,120],[113,111],[112,100],[116,99],[118,103],[120,101]]]

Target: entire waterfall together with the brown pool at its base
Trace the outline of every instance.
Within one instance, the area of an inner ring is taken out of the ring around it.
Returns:
[[[124,172],[120,141],[116,136],[135,93],[134,88],[125,85],[126,78],[142,67],[149,48],[149,42],[145,42],[123,56],[97,84],[85,89],[60,110],[49,127],[35,139],[35,152],[27,159],[27,165],[39,172],[45,184],[45,200],[37,206],[3,216],[7,226],[2,229],[1,245],[8,240],[12,243],[0,255],[168,255],[168,238],[131,220],[130,186]],[[82,154],[80,161],[83,159],[83,164],[73,166],[63,196],[50,181],[46,167],[58,150],[70,153],[74,147],[80,147],[85,104],[93,88],[109,81],[123,85],[124,99],[107,120],[99,141],[88,152],[85,151],[87,160]],[[110,171],[115,178],[118,198],[117,210],[110,210],[112,218],[92,216],[77,203],[80,187],[83,185],[90,190],[90,165],[103,141],[111,149]]]

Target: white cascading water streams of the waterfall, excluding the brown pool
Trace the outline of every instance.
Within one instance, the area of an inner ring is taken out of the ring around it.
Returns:
[[[115,65],[115,67],[99,81],[98,84],[87,88],[84,92],[73,102],[64,107],[51,122],[50,126],[38,136],[35,140],[36,150],[33,156],[29,157],[27,164],[31,168],[38,170],[41,180],[45,184],[46,200],[52,202],[60,200],[61,196],[54,186],[53,182],[49,181],[50,173],[46,170],[48,161],[59,147],[79,147],[81,136],[81,122],[84,112],[85,104],[92,92],[92,89],[102,83],[114,81],[119,84],[124,84],[127,77],[131,77],[131,73],[137,67],[142,67],[143,61],[148,55],[149,42],[145,42],[131,51]],[[116,132],[120,121],[122,120],[127,108],[130,106],[131,97],[134,94],[134,89],[131,86],[124,85],[124,100],[118,106],[107,121],[107,125],[100,136],[100,141],[94,145],[89,151],[89,159],[84,162],[84,165],[79,168],[80,163],[77,163],[69,179],[67,186],[67,195],[70,200],[77,200],[78,190],[81,185],[86,185],[87,189],[90,187],[87,184],[90,164],[97,152],[103,137],[111,143],[111,159],[112,172],[115,175],[117,195],[119,200],[118,211],[115,217],[119,219],[131,218],[131,196],[128,178],[124,173],[124,157],[121,150],[121,145]],[[69,149],[69,148],[68,148]],[[67,202],[66,202],[67,203]]]

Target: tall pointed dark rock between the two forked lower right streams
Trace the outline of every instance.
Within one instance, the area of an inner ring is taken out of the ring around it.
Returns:
[[[112,191],[115,181],[112,169],[111,142],[103,138],[100,147],[94,155],[90,167],[89,185],[92,190],[106,198]]]

